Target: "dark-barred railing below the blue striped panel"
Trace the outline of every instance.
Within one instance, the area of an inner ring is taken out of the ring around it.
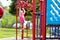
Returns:
[[[47,39],[60,39],[60,25],[50,25],[46,27]]]

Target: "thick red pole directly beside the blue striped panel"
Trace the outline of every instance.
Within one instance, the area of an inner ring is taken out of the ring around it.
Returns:
[[[40,9],[42,16],[42,40],[46,40],[46,1],[47,0],[40,0]]]

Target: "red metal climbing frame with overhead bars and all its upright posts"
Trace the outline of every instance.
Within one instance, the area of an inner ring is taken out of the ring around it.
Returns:
[[[33,27],[32,27],[32,40],[36,40],[36,0],[32,0],[32,5],[30,5],[29,3],[25,2],[24,0],[17,0],[17,5],[16,5],[16,40],[17,40],[17,22],[18,22],[18,9],[19,8],[29,8],[31,6],[31,9],[33,10],[32,12],[32,23],[33,23]],[[43,14],[43,16],[41,17],[41,40],[46,40],[46,0],[41,0],[40,1],[40,5],[41,5],[41,13]],[[43,6],[44,5],[44,6]],[[38,14],[39,15],[39,14]],[[23,25],[22,25],[23,28]],[[43,31],[42,31],[43,30]],[[23,33],[24,29],[22,30],[22,40],[24,38]]]

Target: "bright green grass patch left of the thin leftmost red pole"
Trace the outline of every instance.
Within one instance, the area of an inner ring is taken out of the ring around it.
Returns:
[[[16,32],[15,29],[0,28],[0,38],[14,37]]]

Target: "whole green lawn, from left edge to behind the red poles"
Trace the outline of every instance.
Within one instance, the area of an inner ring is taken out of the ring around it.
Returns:
[[[26,37],[26,30],[24,32]],[[21,37],[20,31],[18,29],[18,36]],[[11,38],[16,37],[16,29],[14,28],[0,28],[0,39],[1,38]],[[32,31],[29,30],[29,37],[32,37]]]

